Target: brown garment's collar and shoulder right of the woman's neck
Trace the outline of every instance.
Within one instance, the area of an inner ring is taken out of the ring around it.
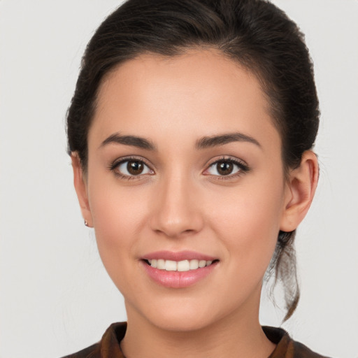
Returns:
[[[267,338],[276,345],[268,358],[328,358],[294,341],[284,329],[274,327],[262,327],[262,329]]]

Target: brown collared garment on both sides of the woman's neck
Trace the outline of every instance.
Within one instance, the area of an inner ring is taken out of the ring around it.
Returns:
[[[125,358],[120,349],[120,341],[124,338],[126,329],[126,322],[113,323],[99,343],[63,358]],[[283,329],[273,327],[262,327],[262,329],[267,338],[277,345],[268,358],[324,358],[309,350],[306,345],[292,341]]]

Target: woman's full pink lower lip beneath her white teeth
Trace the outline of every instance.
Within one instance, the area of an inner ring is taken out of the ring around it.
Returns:
[[[142,261],[142,263],[146,273],[148,273],[152,280],[159,283],[159,285],[171,288],[184,288],[192,286],[196,284],[196,282],[206,278],[206,276],[208,276],[217,265],[217,262],[214,262],[213,264],[203,268],[179,272],[159,270],[158,268],[148,265],[144,261]]]

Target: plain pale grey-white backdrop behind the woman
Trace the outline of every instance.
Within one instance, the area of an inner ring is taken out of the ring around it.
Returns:
[[[61,357],[126,319],[83,225],[64,118],[87,41],[115,0],[0,0],[0,357]],[[283,325],[358,357],[358,1],[277,0],[306,34],[321,103],[320,183],[299,229],[301,301]],[[282,312],[264,296],[262,324]]]

